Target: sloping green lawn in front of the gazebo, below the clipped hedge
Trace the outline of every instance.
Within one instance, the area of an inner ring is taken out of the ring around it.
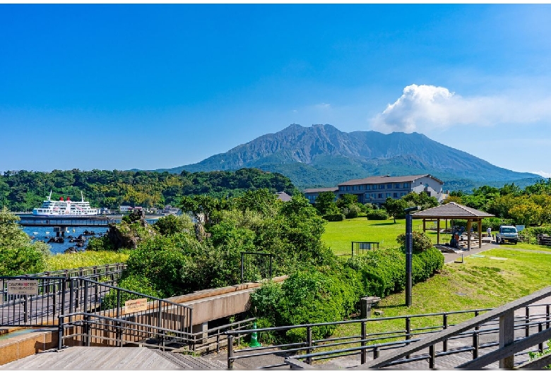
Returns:
[[[549,247],[519,243],[483,251],[464,258],[464,263],[444,265],[440,274],[415,284],[412,306],[405,306],[405,292],[381,300],[376,309],[383,317],[437,313],[451,310],[494,308],[551,285]],[[450,316],[456,324],[470,315]],[[416,320],[415,326],[442,324],[442,317]],[[370,324],[370,332],[403,330],[403,320]],[[333,337],[360,333],[359,325],[342,325]]]

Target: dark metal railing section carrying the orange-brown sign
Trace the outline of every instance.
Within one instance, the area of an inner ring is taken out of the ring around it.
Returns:
[[[62,345],[64,339],[73,339],[74,345],[75,337],[81,337],[81,344],[88,346],[122,346],[143,339],[156,339],[152,343],[155,346],[165,346],[169,341],[193,343],[190,341],[193,310],[190,306],[91,279],[73,278],[71,282],[83,283],[83,292],[74,300],[80,309],[59,315],[59,344]],[[103,292],[95,292],[102,287],[106,287]],[[129,301],[143,301],[143,308],[130,308]]]

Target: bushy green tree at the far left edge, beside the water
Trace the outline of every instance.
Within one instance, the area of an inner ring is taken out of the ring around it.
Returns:
[[[32,243],[20,228],[19,217],[0,210],[0,275],[22,275],[45,269],[49,247],[42,242]]]

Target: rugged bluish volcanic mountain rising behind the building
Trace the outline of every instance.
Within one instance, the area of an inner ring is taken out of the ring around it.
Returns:
[[[182,170],[243,167],[280,172],[300,188],[335,186],[348,179],[381,174],[427,173],[444,181],[461,181],[459,186],[541,179],[536,174],[496,167],[420,133],[344,133],[331,125],[303,127],[297,124],[278,133],[262,135],[197,164],[159,171],[179,173]],[[445,188],[455,189],[448,183]]]

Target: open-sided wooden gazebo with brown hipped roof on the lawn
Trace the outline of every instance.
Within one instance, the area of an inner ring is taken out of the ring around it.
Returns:
[[[458,203],[447,203],[437,207],[431,207],[420,212],[413,213],[414,219],[423,220],[423,231],[427,231],[427,221],[437,220],[437,242],[440,243],[440,219],[466,219],[467,220],[467,248],[470,250],[470,228],[473,222],[478,224],[478,248],[482,247],[482,218],[494,217],[490,213],[466,207]]]

